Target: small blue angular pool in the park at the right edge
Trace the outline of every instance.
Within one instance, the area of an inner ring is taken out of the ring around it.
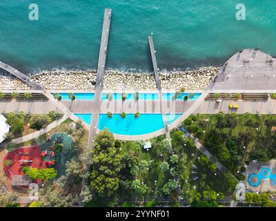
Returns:
[[[251,173],[248,177],[251,186],[259,186],[262,180],[271,180],[276,186],[276,174],[269,167],[262,167],[259,173]]]

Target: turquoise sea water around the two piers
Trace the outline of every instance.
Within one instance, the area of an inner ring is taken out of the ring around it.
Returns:
[[[39,21],[28,19],[30,3]],[[104,8],[112,8],[107,68],[151,70],[153,33],[159,68],[217,65],[242,48],[276,54],[276,2],[244,0],[1,0],[0,61],[23,72],[95,68]]]

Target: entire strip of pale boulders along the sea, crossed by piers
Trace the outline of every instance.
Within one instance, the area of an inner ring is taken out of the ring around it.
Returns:
[[[165,90],[204,90],[219,67],[208,66],[193,70],[160,70],[161,86]],[[97,71],[40,70],[28,74],[31,79],[48,90],[95,90]],[[103,90],[156,90],[153,73],[130,73],[106,70]],[[32,87],[9,74],[0,74],[0,90],[32,90]]]

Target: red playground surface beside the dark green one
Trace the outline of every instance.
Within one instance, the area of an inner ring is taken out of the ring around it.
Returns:
[[[32,166],[38,169],[46,168],[45,161],[40,157],[39,146],[28,146],[17,148],[15,151],[7,153],[3,157],[3,163],[6,160],[12,160],[10,166],[3,166],[3,171],[11,180],[12,175],[23,175],[22,168],[24,166]]]

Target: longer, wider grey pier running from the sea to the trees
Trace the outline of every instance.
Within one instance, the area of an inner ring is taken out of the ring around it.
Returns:
[[[108,39],[110,32],[112,10],[106,8],[104,11],[103,30],[101,32],[101,46],[99,49],[99,61],[97,68],[97,80],[95,87],[95,109],[92,111],[91,126],[88,138],[88,148],[94,145],[94,138],[97,133],[99,113],[101,111],[101,90],[103,88],[104,71],[106,70],[106,55],[108,52]]]

